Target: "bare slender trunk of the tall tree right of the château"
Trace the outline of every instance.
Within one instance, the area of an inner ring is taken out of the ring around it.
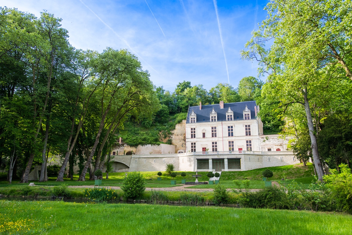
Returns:
[[[316,142],[316,136],[314,135],[314,125],[313,125],[312,113],[310,112],[310,107],[309,107],[307,88],[303,88],[300,90],[304,98],[304,109],[306,111],[306,116],[307,116],[307,124],[308,124],[310,141],[312,143],[311,149],[312,149],[314,165],[315,165],[316,173],[318,175],[318,180],[322,181],[324,171],[319,158],[318,143]]]

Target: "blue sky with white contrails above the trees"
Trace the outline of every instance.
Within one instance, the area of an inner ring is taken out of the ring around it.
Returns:
[[[46,10],[62,18],[75,48],[126,48],[149,71],[155,86],[172,92],[184,80],[209,91],[219,82],[237,87],[243,77],[256,77],[257,63],[241,61],[239,51],[265,19],[267,2],[0,0],[0,6],[37,17]]]

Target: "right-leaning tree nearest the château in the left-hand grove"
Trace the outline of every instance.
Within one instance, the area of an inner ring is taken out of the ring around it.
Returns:
[[[130,112],[150,112],[158,104],[149,74],[142,70],[137,58],[126,50],[107,48],[99,56],[94,70],[101,78],[102,86],[94,98],[100,101],[100,124],[94,145],[90,150],[86,165],[78,180],[84,181],[103,129],[103,147],[108,135],[116,130],[121,120]],[[102,149],[96,156],[96,168],[99,167]]]

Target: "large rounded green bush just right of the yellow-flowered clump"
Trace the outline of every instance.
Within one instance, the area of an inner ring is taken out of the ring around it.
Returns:
[[[136,198],[145,190],[145,182],[140,172],[130,172],[124,180],[121,189],[126,198]]]

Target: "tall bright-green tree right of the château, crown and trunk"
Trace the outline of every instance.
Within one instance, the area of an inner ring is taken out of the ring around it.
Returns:
[[[244,59],[259,61],[260,74],[269,74],[263,88],[268,97],[279,99],[284,109],[303,105],[319,180],[323,170],[311,104],[333,91],[342,71],[351,79],[351,9],[351,1],[343,0],[271,1],[269,17],[241,51]]]

